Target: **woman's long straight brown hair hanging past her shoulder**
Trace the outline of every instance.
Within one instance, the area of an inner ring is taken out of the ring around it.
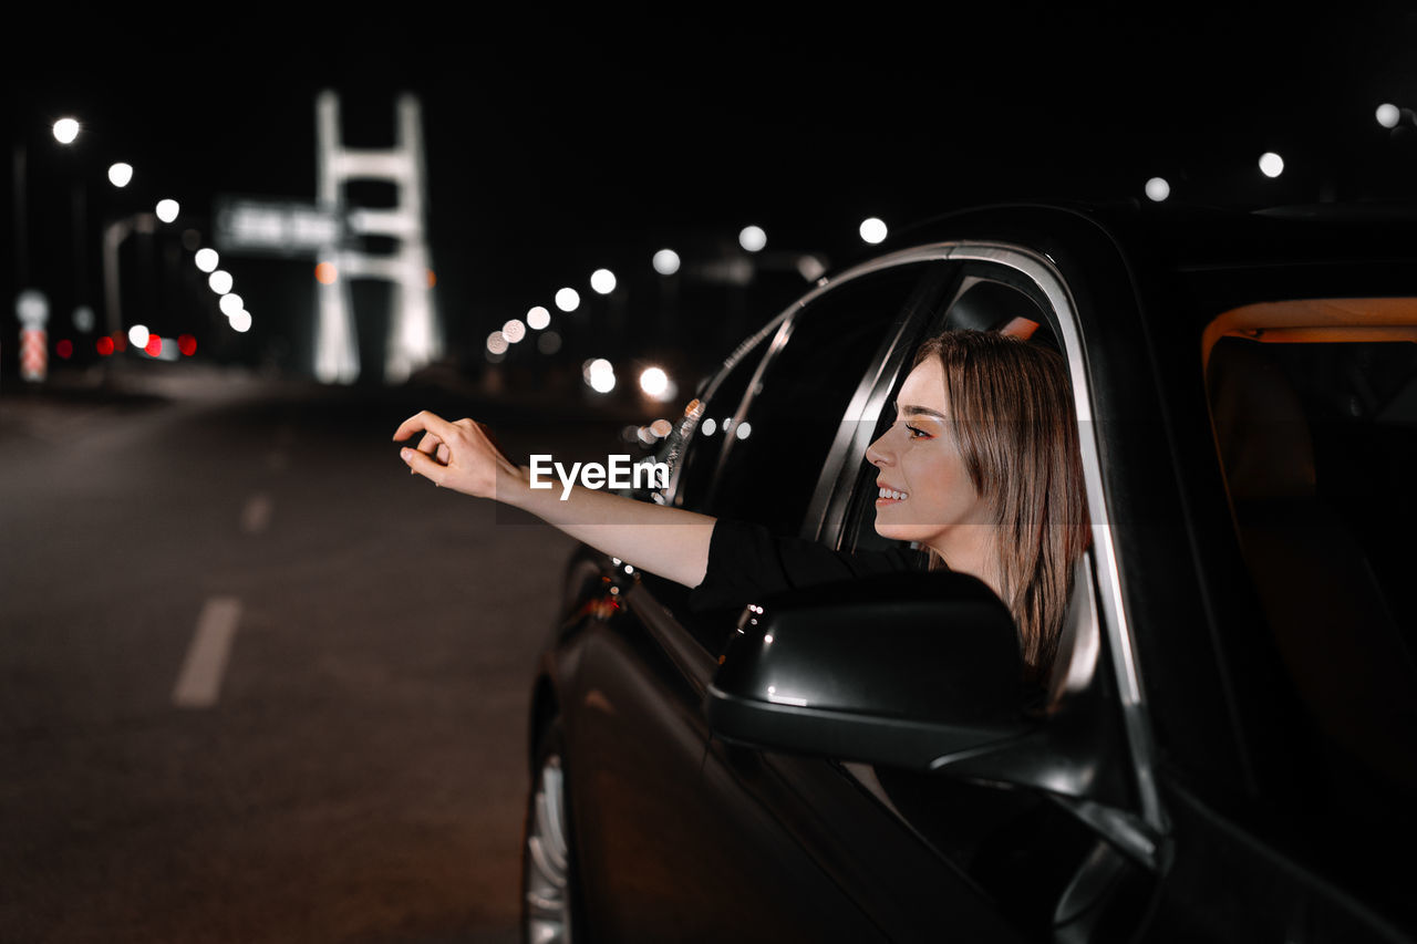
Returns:
[[[1029,676],[1057,655],[1073,571],[1091,540],[1067,364],[1019,337],[945,332],[915,354],[945,371],[949,428],[998,529],[1003,601]],[[948,564],[934,550],[931,567]]]

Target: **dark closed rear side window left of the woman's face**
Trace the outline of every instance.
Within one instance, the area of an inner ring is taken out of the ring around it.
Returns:
[[[898,329],[921,276],[922,266],[863,275],[792,318],[748,391],[745,412],[706,417],[716,421],[711,435],[723,439],[711,515],[779,534],[802,530],[846,405]],[[706,422],[700,434],[710,435]]]

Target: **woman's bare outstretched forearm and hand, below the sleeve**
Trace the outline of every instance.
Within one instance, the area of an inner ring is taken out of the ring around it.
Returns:
[[[405,448],[401,456],[435,485],[527,510],[599,551],[686,587],[703,583],[716,519],[578,485],[563,502],[561,488],[533,489],[529,472],[514,466],[473,420],[448,422],[425,410],[405,420],[394,439],[415,432],[424,434],[418,448]]]

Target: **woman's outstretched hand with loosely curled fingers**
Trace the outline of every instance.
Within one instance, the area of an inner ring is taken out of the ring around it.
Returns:
[[[458,420],[448,422],[442,417],[424,410],[404,420],[394,441],[401,442],[415,432],[422,432],[418,448],[400,452],[408,468],[434,485],[456,489],[476,498],[510,498],[506,490],[521,482],[521,472],[493,445],[480,422]]]

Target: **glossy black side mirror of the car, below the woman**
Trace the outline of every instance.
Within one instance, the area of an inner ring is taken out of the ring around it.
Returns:
[[[965,574],[890,574],[752,605],[706,693],[714,734],[934,770],[1037,729],[1007,608]]]

